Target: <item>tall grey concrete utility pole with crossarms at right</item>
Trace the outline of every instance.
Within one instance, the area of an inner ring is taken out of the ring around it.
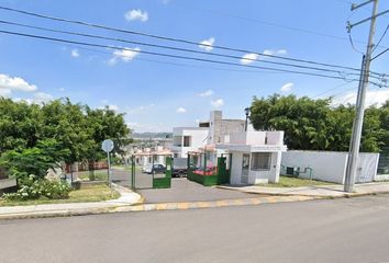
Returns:
[[[360,136],[362,136],[362,127],[364,123],[364,114],[365,114],[365,98],[366,98],[366,90],[368,87],[369,81],[369,72],[370,72],[370,62],[371,62],[371,53],[374,48],[374,35],[376,32],[376,20],[379,15],[377,15],[378,10],[378,0],[369,0],[360,4],[353,4],[352,11],[362,8],[368,3],[373,2],[373,13],[371,18],[362,20],[355,24],[351,24],[348,22],[347,28],[348,32],[356,25],[365,23],[370,20],[370,32],[367,43],[367,50],[363,57],[362,70],[360,70],[360,79],[359,79],[359,88],[358,88],[358,95],[356,101],[356,116],[354,118],[353,124],[353,133],[352,133],[352,140],[349,145],[349,152],[348,152],[348,161],[347,161],[347,170],[346,170],[346,179],[344,184],[345,192],[353,192],[355,176],[357,171],[357,161],[359,155],[359,146],[360,146]]]

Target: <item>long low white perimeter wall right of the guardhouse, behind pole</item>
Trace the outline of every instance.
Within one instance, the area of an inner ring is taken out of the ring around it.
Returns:
[[[371,182],[377,174],[378,153],[360,153],[357,163],[355,182]],[[284,167],[299,167],[300,176],[309,178],[301,173],[305,168],[313,169],[313,179],[344,184],[347,152],[337,151],[286,151],[282,152]]]

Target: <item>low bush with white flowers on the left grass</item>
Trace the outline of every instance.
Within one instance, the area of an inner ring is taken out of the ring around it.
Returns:
[[[48,181],[45,179],[36,179],[31,174],[19,179],[20,188],[16,193],[4,194],[8,201],[26,201],[37,199],[45,196],[49,199],[63,199],[69,197],[71,187],[64,181]]]

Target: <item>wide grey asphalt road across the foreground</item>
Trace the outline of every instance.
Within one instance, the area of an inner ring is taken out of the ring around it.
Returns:
[[[389,195],[0,221],[0,262],[389,262]]]

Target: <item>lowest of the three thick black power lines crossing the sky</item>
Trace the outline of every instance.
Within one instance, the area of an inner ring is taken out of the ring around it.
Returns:
[[[76,42],[76,41],[55,38],[55,37],[48,37],[48,36],[24,34],[24,33],[19,33],[19,32],[10,32],[10,31],[0,30],[0,33],[9,34],[9,35],[18,35],[18,36],[23,36],[23,37],[29,37],[29,38],[37,38],[37,39],[45,39],[45,41],[53,41],[53,42],[62,42],[62,43],[67,43],[67,44],[76,44],[76,45],[82,45],[82,46],[92,46],[92,47],[111,48],[111,49],[115,49],[115,50],[131,50],[131,52],[134,52],[133,49],[130,49],[130,48],[122,48],[122,47],[116,47],[116,46],[101,45],[101,44],[93,44],[93,43],[86,43],[86,42]],[[274,70],[274,71],[286,72],[286,73],[297,73],[297,75],[307,75],[307,76],[314,76],[314,77],[323,77],[323,78],[345,80],[344,77],[337,77],[337,76],[330,76],[330,75],[322,75],[322,73],[314,73],[314,72],[305,72],[305,71],[297,71],[297,70],[288,70],[288,69],[278,69],[278,68],[270,68],[270,67],[260,67],[260,66],[254,66],[254,65],[242,65],[242,64],[221,61],[221,60],[212,60],[212,59],[204,59],[204,58],[198,58],[198,57],[186,57],[186,56],[164,54],[164,53],[155,53],[155,52],[146,52],[146,50],[136,50],[136,53],[154,55],[154,56],[162,56],[162,57],[170,57],[170,58],[177,58],[177,59],[186,59],[186,60],[194,60],[194,61],[202,61],[202,62],[212,62],[212,64],[220,64],[220,65],[256,68],[256,69],[263,69],[263,70]],[[354,80],[356,80],[356,79],[354,79]]]

